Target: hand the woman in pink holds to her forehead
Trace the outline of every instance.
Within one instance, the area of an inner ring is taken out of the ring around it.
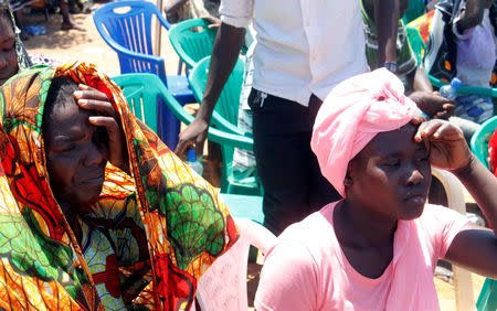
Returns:
[[[463,132],[448,121],[434,119],[421,124],[414,140],[424,141],[433,167],[452,171],[469,164],[472,152]]]

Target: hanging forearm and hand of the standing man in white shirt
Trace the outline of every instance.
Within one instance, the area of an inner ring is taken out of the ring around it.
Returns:
[[[187,147],[193,143],[197,149],[197,154],[202,154],[203,142],[207,138],[212,111],[236,64],[244,37],[244,28],[235,28],[226,23],[221,23],[212,49],[209,76],[200,109],[191,125],[180,132],[178,147],[176,148],[177,153],[183,153]]]

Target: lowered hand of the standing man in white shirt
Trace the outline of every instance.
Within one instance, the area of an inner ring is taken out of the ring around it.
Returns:
[[[202,154],[203,143],[208,136],[208,131],[209,122],[203,118],[197,117],[187,129],[179,133],[179,141],[175,153],[181,157],[187,149],[190,149],[193,146],[195,148],[195,154]]]

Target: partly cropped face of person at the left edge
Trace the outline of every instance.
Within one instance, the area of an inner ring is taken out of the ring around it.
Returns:
[[[17,73],[15,33],[8,18],[0,17],[0,86]]]

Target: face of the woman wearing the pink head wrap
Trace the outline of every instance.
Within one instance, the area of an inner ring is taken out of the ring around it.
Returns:
[[[413,140],[416,127],[377,135],[348,170],[347,196],[392,219],[413,219],[423,213],[431,183],[429,152]]]

